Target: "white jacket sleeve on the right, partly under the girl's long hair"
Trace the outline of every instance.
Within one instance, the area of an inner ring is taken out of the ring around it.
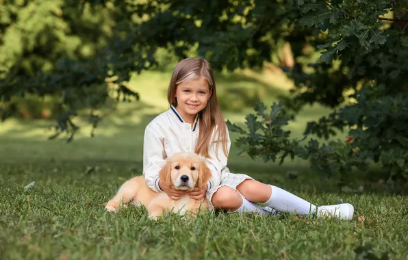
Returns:
[[[218,186],[221,182],[221,172],[227,168],[228,155],[225,155],[224,150],[222,149],[222,143],[218,144],[218,133],[214,129],[212,140],[209,144],[209,158],[207,158],[207,166],[212,172],[213,177],[210,179],[209,185]],[[227,152],[231,148],[231,139],[229,138],[229,131],[227,129]],[[211,183],[212,182],[212,183]]]

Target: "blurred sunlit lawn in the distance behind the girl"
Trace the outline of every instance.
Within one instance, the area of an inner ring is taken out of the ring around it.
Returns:
[[[106,116],[97,127],[94,138],[90,137],[88,117],[73,118],[81,128],[72,143],[64,139],[47,140],[55,121],[51,113],[53,99],[21,99],[21,118],[5,120],[0,127],[0,160],[128,160],[142,161],[144,128],[157,114],[169,108],[167,88],[171,71],[153,70],[133,75],[128,86],[140,94],[140,101],[121,102],[112,109],[101,109]],[[226,120],[243,124],[246,114],[253,112],[253,105],[277,101],[279,95],[288,95],[292,81],[284,73],[270,70],[239,70],[235,73],[216,73],[217,92]],[[45,102],[43,102],[45,100]],[[319,105],[306,107],[288,129],[293,137],[301,137],[306,122],[318,119],[329,112]],[[23,116],[25,114],[25,117]],[[41,118],[49,116],[50,118]],[[49,129],[48,127],[51,127]],[[62,136],[63,137],[63,136]],[[234,141],[237,135],[231,133]],[[339,138],[344,138],[340,135]],[[238,157],[238,148],[231,149],[231,161],[255,164],[251,158]],[[256,164],[264,164],[257,161]],[[237,169],[239,170],[239,169]]]

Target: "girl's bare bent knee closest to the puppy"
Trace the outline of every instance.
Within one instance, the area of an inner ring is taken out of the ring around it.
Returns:
[[[238,209],[242,205],[242,197],[231,187],[220,187],[211,200],[217,209]]]

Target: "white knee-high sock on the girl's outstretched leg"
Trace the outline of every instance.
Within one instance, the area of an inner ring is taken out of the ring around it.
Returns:
[[[309,213],[316,212],[316,205],[309,203],[303,198],[282,190],[280,187],[270,185],[272,189],[272,194],[265,205],[276,209],[277,211],[287,212],[287,213],[296,213],[301,215],[306,215]]]

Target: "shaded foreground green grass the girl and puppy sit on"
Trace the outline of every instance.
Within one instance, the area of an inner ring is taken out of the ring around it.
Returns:
[[[64,255],[68,259],[350,259],[357,246],[368,243],[377,255],[407,257],[408,209],[403,196],[321,192],[324,183],[308,181],[307,176],[277,181],[273,174],[256,169],[254,177],[278,182],[320,205],[337,203],[339,198],[353,203],[355,220],[209,213],[197,220],[167,216],[152,222],[144,208],[107,213],[102,206],[120,183],[140,172],[140,164],[99,162],[97,171],[86,174],[89,165],[84,161],[2,164],[2,259]],[[31,181],[36,184],[25,191]],[[333,183],[328,185],[333,188]],[[357,220],[358,216],[365,220]]]

